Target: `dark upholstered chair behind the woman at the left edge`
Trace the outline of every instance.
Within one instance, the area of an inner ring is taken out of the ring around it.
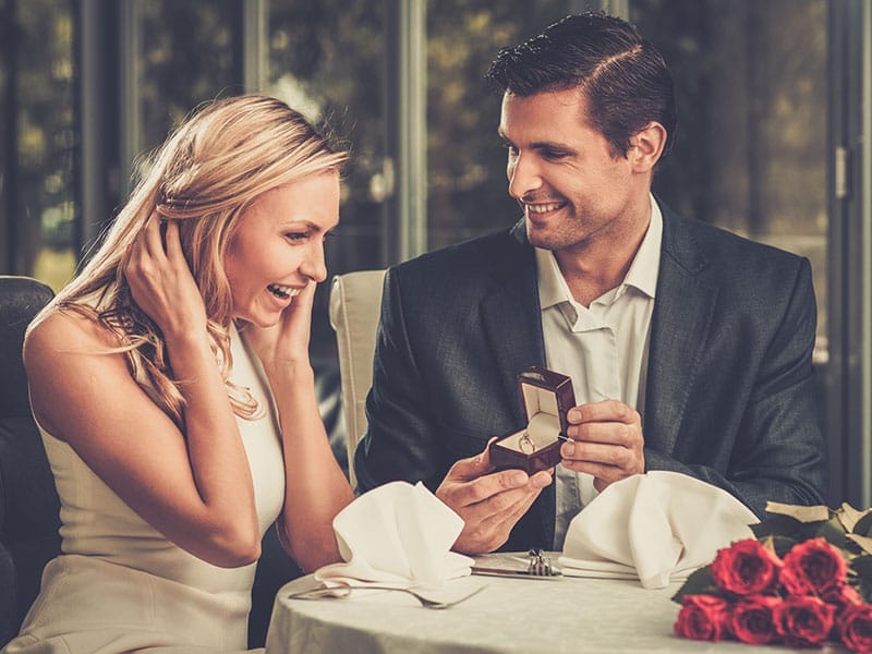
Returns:
[[[0,646],[19,632],[43,567],[60,554],[60,502],[21,359],[24,330],[52,296],[35,279],[0,276]]]

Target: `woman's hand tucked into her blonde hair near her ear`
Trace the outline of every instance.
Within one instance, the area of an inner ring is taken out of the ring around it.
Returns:
[[[153,214],[130,246],[124,277],[131,294],[168,340],[205,335],[206,307],[182,253],[179,222],[164,225],[161,239],[161,220]]]

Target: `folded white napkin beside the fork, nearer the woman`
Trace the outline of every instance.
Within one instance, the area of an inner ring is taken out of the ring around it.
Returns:
[[[463,520],[422,483],[390,482],[364,493],[334,519],[344,562],[315,579],[365,586],[439,588],[470,574],[473,559],[451,552]]]

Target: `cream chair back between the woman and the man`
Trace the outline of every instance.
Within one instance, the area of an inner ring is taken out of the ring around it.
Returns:
[[[348,473],[352,487],[354,449],[366,431],[366,393],[373,384],[373,354],[385,270],[336,275],[330,288],[330,325],[336,330],[342,413],[346,417]]]

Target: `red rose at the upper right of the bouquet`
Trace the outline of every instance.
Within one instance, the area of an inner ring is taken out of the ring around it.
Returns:
[[[779,579],[790,595],[821,595],[847,579],[848,566],[824,538],[794,545],[784,557]]]

